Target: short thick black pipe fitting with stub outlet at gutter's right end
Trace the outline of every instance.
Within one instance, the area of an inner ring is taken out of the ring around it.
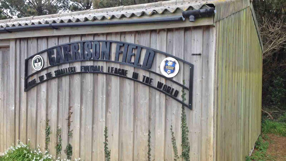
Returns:
[[[182,14],[184,18],[189,17],[189,21],[194,22],[196,17],[214,15],[215,13],[216,13],[215,8],[211,7],[208,9],[196,9],[196,10],[190,10],[190,11],[183,11]]]

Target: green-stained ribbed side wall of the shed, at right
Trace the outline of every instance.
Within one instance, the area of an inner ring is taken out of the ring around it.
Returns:
[[[261,131],[262,50],[250,7],[216,32],[216,160],[245,160]]]

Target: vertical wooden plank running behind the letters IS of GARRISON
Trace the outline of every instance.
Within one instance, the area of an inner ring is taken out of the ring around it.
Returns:
[[[93,35],[82,36],[82,40],[93,40]],[[93,62],[82,62],[82,65],[93,65]],[[94,98],[94,74],[81,74],[82,82],[82,116],[81,116],[81,155],[86,161],[92,160],[92,120]]]

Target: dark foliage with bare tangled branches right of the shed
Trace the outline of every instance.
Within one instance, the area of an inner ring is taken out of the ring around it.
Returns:
[[[264,46],[262,104],[275,118],[286,109],[286,1],[254,0],[253,7]]]

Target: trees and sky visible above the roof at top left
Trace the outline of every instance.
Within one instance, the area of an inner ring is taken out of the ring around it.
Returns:
[[[0,19],[137,5],[157,1],[161,0],[0,0]]]

